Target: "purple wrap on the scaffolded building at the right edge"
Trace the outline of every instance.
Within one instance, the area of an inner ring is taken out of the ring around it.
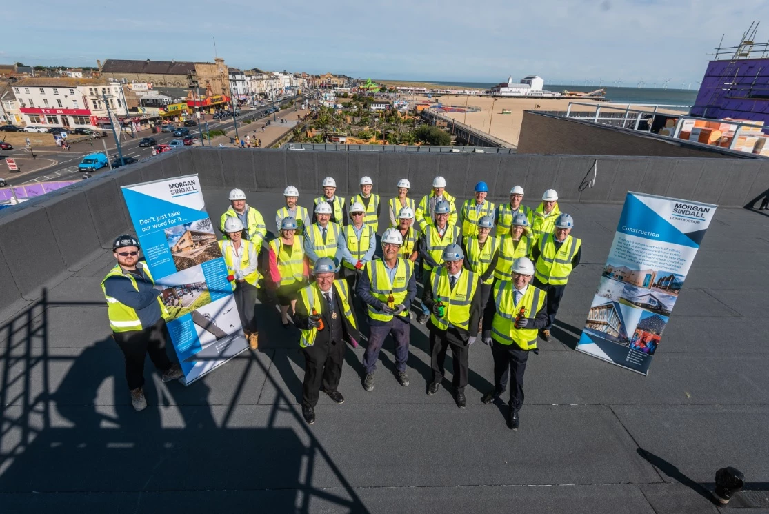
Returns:
[[[769,58],[709,62],[691,115],[769,125]]]

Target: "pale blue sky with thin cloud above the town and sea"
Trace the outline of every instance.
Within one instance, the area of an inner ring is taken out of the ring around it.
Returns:
[[[112,2],[110,2],[112,3]],[[0,63],[198,60],[354,77],[501,82],[701,80],[712,52],[754,20],[769,41],[769,2],[724,0],[441,0],[94,5],[6,2]],[[37,16],[40,12],[45,15]]]

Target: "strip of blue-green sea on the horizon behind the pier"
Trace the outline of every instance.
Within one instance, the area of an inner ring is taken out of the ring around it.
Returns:
[[[432,84],[458,85],[464,88],[491,89],[496,84],[491,82],[435,82]],[[622,88],[611,85],[601,86],[606,88],[606,100],[617,103],[655,104],[655,105],[684,105],[691,107],[697,98],[696,89],[673,88]],[[551,92],[582,91],[591,92],[599,89],[596,85],[564,85],[545,84],[544,89]]]

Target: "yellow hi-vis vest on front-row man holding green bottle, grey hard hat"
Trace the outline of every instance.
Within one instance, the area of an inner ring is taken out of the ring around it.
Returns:
[[[473,302],[475,289],[478,288],[478,275],[463,269],[459,280],[451,289],[448,279],[448,271],[444,266],[438,266],[430,274],[430,285],[433,289],[433,298],[443,302],[445,314],[442,318],[431,314],[433,325],[440,330],[448,330],[448,325],[454,325],[458,329],[468,330],[470,326],[470,305]],[[428,285],[428,286],[430,286]],[[478,329],[478,327],[474,327]],[[469,332],[469,330],[468,330]]]

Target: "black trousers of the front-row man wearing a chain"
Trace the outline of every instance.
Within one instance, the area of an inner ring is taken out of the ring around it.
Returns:
[[[336,391],[341,379],[341,365],[345,362],[344,341],[316,341],[304,349],[305,383],[302,386],[302,405],[315,407],[321,385],[326,391]]]

